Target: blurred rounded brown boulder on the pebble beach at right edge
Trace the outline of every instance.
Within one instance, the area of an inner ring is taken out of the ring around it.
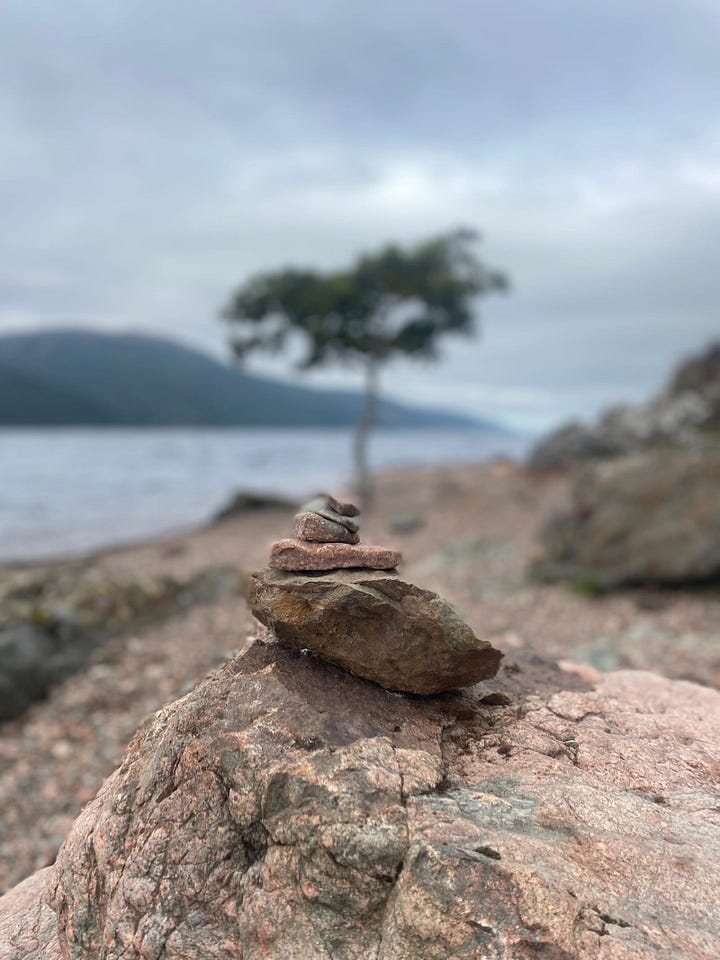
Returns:
[[[598,464],[542,534],[534,571],[599,587],[720,578],[720,445]]]

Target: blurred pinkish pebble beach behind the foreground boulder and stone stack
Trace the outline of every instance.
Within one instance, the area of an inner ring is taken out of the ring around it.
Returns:
[[[720,687],[720,590],[591,598],[528,577],[537,530],[565,502],[569,475],[495,461],[382,471],[377,482],[377,505],[362,518],[363,541],[399,548],[400,576],[445,596],[502,651],[529,650],[585,672],[650,670]],[[394,530],[408,515],[416,520],[412,530]],[[266,565],[270,544],[287,535],[290,519],[289,512],[256,511],[96,553],[87,582],[92,589],[99,581],[187,580],[224,565],[241,585]],[[27,575],[27,567],[15,569],[19,580]],[[55,569],[62,573],[63,561]],[[52,862],[137,728],[244,652],[256,629],[242,592],[176,606],[161,621],[132,622],[46,700],[2,725],[0,891]]]

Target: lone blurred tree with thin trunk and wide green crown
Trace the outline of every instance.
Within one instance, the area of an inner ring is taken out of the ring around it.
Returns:
[[[302,370],[333,362],[364,370],[365,399],[353,440],[356,483],[372,494],[367,441],[375,419],[380,368],[395,357],[437,359],[448,333],[471,334],[474,299],[507,289],[507,279],[477,256],[478,234],[459,229],[411,247],[389,244],[346,270],[287,269],[247,280],[222,316],[242,360],[277,353],[300,339]]]

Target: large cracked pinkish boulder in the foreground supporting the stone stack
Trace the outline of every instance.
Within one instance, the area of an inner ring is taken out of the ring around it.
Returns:
[[[0,900],[0,958],[716,960],[718,730],[651,674],[417,701],[256,644]]]

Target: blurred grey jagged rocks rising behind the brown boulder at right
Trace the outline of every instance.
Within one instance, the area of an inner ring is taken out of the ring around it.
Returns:
[[[620,457],[647,447],[692,443],[700,430],[720,426],[720,344],[683,363],[649,403],[620,405],[594,425],[568,423],[530,455],[534,467]]]

